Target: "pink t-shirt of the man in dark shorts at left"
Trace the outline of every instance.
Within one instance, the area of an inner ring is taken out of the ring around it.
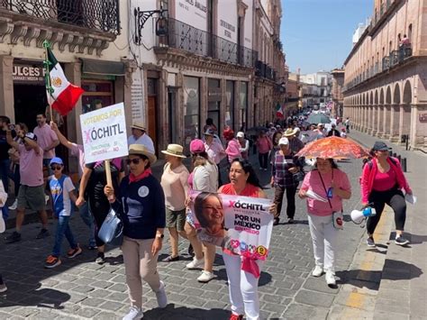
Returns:
[[[43,181],[43,151],[27,151],[23,144],[19,144],[19,173],[21,184],[28,187],[39,187]]]

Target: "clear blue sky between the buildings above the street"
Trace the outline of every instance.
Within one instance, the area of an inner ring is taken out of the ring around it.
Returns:
[[[280,38],[291,72],[341,68],[352,35],[374,11],[373,0],[281,0]]]

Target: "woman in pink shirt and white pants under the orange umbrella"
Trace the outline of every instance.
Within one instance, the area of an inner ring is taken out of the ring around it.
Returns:
[[[350,199],[350,181],[345,172],[338,169],[332,159],[317,158],[315,168],[304,178],[298,196],[307,198],[308,224],[313,240],[315,268],[313,277],[325,271],[326,283],[336,286],[335,251],[338,229],[333,226],[332,215],[342,211],[342,199]],[[327,202],[307,197],[308,190],[327,199]]]

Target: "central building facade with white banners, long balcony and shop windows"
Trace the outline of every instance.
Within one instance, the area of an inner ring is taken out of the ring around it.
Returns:
[[[164,36],[156,34],[155,16],[141,30],[141,45],[132,45],[142,70],[145,120],[158,151],[170,142],[188,151],[191,140],[203,135],[207,118],[220,135],[225,126],[246,130],[272,120],[277,81],[285,77],[280,1],[144,0],[136,5],[168,10]]]

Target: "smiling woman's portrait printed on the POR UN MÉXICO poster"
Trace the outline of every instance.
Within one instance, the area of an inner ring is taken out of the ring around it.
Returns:
[[[223,202],[218,194],[201,192],[194,200],[195,218],[200,224],[197,237],[202,242],[223,246],[227,238],[224,228]]]

